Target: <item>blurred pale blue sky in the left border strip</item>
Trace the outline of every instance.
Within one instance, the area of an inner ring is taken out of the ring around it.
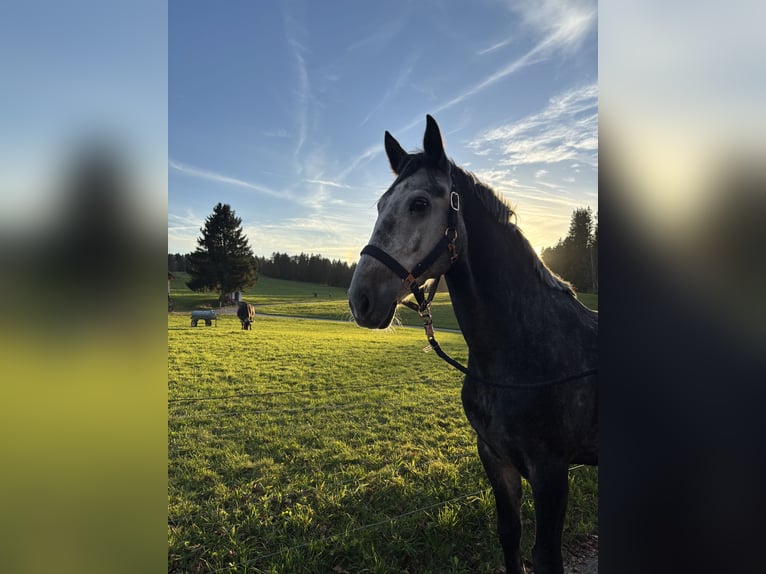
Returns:
[[[36,234],[68,207],[72,164],[95,142],[130,174],[140,233],[164,239],[168,19],[156,0],[31,0],[0,17],[0,229]],[[126,178],[127,179],[127,178]]]

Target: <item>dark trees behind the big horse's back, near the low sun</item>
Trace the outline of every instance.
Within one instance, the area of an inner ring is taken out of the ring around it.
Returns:
[[[575,209],[569,233],[541,253],[545,264],[577,291],[598,293],[598,214],[590,207]]]

